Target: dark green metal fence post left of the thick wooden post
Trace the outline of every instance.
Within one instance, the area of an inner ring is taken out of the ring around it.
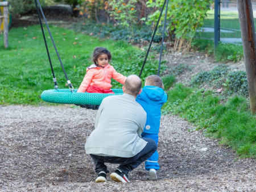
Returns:
[[[214,0],[214,51],[220,41],[220,0]]]

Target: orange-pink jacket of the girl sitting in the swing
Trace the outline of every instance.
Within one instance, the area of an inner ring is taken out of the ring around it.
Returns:
[[[92,64],[86,69],[84,80],[82,80],[77,93],[84,93],[88,86],[99,86],[102,89],[110,89],[111,78],[120,84],[125,84],[126,77],[117,73],[112,65],[106,65],[104,68]]]

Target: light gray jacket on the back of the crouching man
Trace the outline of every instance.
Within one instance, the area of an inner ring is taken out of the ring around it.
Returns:
[[[147,114],[133,95],[113,95],[103,99],[95,130],[85,143],[87,154],[133,157],[146,146],[141,133]]]

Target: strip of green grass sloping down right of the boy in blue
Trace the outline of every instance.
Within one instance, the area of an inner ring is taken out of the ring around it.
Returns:
[[[172,112],[204,129],[220,143],[232,147],[241,157],[256,157],[256,119],[245,98],[233,97],[222,104],[212,91],[192,89],[181,84],[168,91],[163,112]]]

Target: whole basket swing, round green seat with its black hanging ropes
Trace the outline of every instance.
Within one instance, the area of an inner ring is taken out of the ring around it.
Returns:
[[[39,17],[40,26],[41,26],[43,37],[44,37],[44,43],[46,44],[48,59],[49,59],[49,62],[50,62],[50,65],[51,65],[51,69],[52,69],[53,82],[55,83],[55,89],[43,91],[43,93],[41,95],[42,99],[44,101],[46,101],[46,102],[62,103],[62,104],[75,104],[75,105],[79,105],[81,107],[85,107],[85,108],[90,108],[90,109],[96,110],[96,109],[98,109],[99,105],[101,104],[102,100],[105,97],[108,97],[110,95],[121,95],[121,94],[123,94],[122,89],[113,89],[114,94],[77,93],[76,92],[77,90],[73,89],[73,86],[72,86],[71,82],[69,81],[67,73],[65,72],[64,66],[63,66],[63,64],[61,62],[61,59],[60,59],[60,56],[59,56],[59,52],[57,51],[55,42],[54,42],[53,37],[51,35],[51,31],[49,30],[49,26],[47,24],[46,17],[44,16],[44,13],[43,13],[42,7],[41,7],[41,5],[39,3],[39,0],[35,0],[35,3],[36,3],[36,9],[38,11],[38,17]],[[150,45],[149,45],[147,53],[146,53],[146,57],[144,59],[143,65],[142,65],[141,72],[139,74],[139,77],[141,77],[144,65],[146,64],[147,56],[148,56],[148,53],[150,51],[151,44],[152,44],[152,41],[154,39],[156,30],[158,28],[158,24],[159,24],[160,18],[162,16],[162,12],[163,12],[163,9],[164,9],[165,5],[166,5],[166,15],[165,15],[165,18],[164,18],[164,26],[163,26],[163,34],[162,34],[162,44],[161,44],[160,59],[159,59],[159,66],[158,66],[158,76],[159,76],[160,64],[161,64],[161,59],[162,59],[162,51],[163,51],[164,32],[165,32],[165,29],[166,29],[166,16],[167,16],[167,9],[168,9],[168,0],[164,1],[162,10],[161,10],[159,18],[158,18],[158,22],[156,24],[154,33],[153,33],[151,41],[150,41]],[[39,6],[39,9],[40,9],[40,11],[42,13],[44,22],[46,23],[47,30],[49,32],[49,35],[51,36],[51,40],[52,40],[53,46],[54,46],[55,51],[57,53],[57,56],[59,58],[61,67],[62,67],[63,72],[65,74],[65,77],[67,79],[67,82],[68,82],[68,85],[69,85],[69,90],[68,89],[58,89],[58,87],[57,87],[57,82],[56,82],[56,78],[55,78],[55,75],[54,75],[54,72],[53,72],[51,58],[49,56],[48,46],[47,46],[47,42],[46,42],[46,37],[44,35],[42,20],[40,18],[40,13],[39,13],[38,6]]]

